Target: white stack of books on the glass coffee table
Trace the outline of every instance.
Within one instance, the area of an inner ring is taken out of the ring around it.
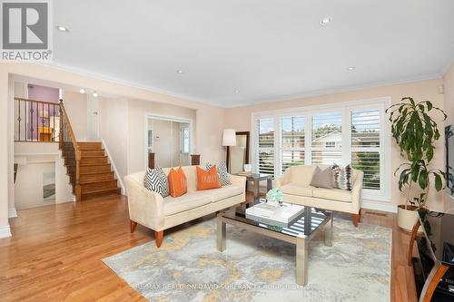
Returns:
[[[304,207],[284,203],[281,207],[259,203],[246,209],[246,218],[271,226],[288,228],[304,214]]]

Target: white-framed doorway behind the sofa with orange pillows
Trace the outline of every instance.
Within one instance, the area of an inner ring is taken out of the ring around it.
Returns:
[[[191,162],[192,121],[147,115],[146,163],[150,166],[153,154],[154,167],[189,166]]]

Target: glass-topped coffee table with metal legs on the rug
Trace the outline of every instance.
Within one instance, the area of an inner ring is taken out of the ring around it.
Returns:
[[[270,224],[247,219],[246,208],[263,202],[255,200],[252,203],[228,209],[217,215],[217,248],[225,250],[226,224],[250,230],[273,239],[279,239],[296,246],[296,283],[306,285],[308,282],[308,245],[309,241],[319,232],[324,233],[326,246],[332,245],[332,213],[323,209],[304,207],[301,215],[294,219],[288,228],[277,227]],[[288,205],[286,203],[283,206]]]

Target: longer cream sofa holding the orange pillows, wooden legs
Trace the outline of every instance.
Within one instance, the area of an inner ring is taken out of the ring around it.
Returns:
[[[169,174],[170,168],[163,169]],[[160,194],[145,189],[145,171],[124,177],[127,195],[131,232],[137,224],[154,230],[156,246],[163,242],[163,230],[170,229],[192,219],[230,208],[246,200],[246,178],[230,175],[232,185],[221,189],[197,190],[195,166],[183,167],[188,192],[183,196],[163,198]]]

